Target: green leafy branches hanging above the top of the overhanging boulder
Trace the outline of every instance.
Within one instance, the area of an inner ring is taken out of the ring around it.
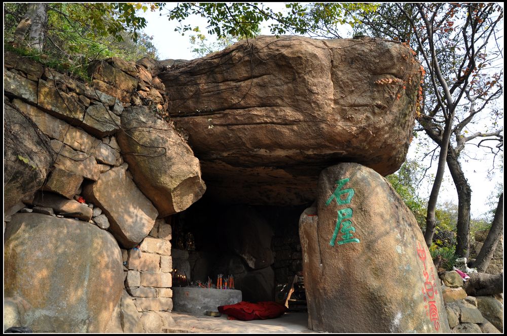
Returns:
[[[160,11],[164,3],[157,4]],[[207,19],[209,34],[218,37],[232,35],[235,37],[253,37],[260,30],[261,24],[270,20],[268,28],[272,34],[308,34],[310,36],[340,37],[338,25],[359,22],[356,11],[370,13],[377,4],[363,3],[300,3],[285,4],[285,11],[277,12],[263,3],[178,3],[165,14],[169,20],[176,20],[180,25],[175,31],[185,34],[194,30],[192,24],[184,20],[191,15]],[[161,14],[162,15],[162,14]]]

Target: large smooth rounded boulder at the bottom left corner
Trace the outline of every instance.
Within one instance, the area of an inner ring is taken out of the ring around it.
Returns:
[[[45,332],[103,332],[122,292],[122,256],[95,225],[15,214],[5,232],[5,296],[29,304],[25,326]]]

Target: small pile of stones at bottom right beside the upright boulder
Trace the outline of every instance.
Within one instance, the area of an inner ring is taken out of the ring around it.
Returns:
[[[493,297],[467,296],[463,279],[455,272],[442,275],[442,297],[452,332],[500,333],[503,305]]]

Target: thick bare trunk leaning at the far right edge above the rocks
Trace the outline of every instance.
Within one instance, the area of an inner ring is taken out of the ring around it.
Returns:
[[[498,205],[496,206],[495,218],[491,223],[491,229],[489,229],[488,236],[482,245],[479,256],[473,266],[477,268],[479,272],[484,272],[488,268],[489,261],[493,257],[496,249],[498,240],[503,234],[503,193],[498,199]]]

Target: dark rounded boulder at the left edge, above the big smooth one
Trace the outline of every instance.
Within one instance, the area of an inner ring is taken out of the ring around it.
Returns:
[[[4,98],[5,209],[43,185],[54,159],[49,138]]]

